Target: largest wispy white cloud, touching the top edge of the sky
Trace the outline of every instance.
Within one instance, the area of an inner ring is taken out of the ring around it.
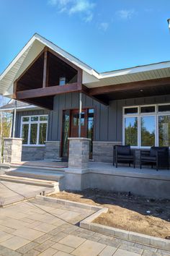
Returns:
[[[93,19],[95,4],[90,0],[48,0],[48,3],[69,15],[81,14],[85,22]]]

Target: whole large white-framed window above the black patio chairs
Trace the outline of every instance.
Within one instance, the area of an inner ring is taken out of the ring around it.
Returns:
[[[170,147],[170,104],[123,109],[123,143],[133,147]]]

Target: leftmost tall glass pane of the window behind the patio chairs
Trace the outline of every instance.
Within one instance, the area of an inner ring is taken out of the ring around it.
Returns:
[[[138,146],[138,118],[125,118],[125,145]]]

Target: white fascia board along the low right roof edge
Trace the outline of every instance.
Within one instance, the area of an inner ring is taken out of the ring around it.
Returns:
[[[125,75],[125,74],[135,74],[135,73],[142,73],[142,72],[149,72],[151,70],[156,70],[156,69],[167,69],[170,68],[170,61],[165,61],[165,62],[160,62],[160,63],[155,63],[155,64],[148,64],[144,66],[139,66],[139,67],[132,67],[128,69],[120,69],[116,71],[111,71],[111,72],[104,72],[100,73],[100,78],[107,78],[107,77],[116,77],[120,75]]]

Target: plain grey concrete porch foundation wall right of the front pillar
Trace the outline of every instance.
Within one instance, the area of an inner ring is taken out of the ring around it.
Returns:
[[[170,199],[170,180],[132,176],[90,174],[90,187],[135,195]]]

